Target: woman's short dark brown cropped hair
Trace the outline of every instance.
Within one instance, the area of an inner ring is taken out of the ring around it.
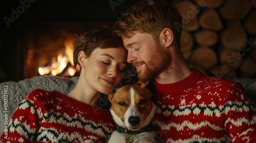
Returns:
[[[122,38],[117,36],[113,30],[109,28],[101,28],[83,33],[82,36],[79,37],[74,49],[74,66],[79,65],[78,53],[80,51],[83,51],[86,53],[87,57],[90,57],[92,52],[98,47],[101,49],[105,47],[123,47],[123,41]]]

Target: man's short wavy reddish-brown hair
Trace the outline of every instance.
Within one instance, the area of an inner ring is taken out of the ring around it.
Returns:
[[[181,15],[172,4],[164,0],[142,0],[122,13],[113,28],[121,37],[129,38],[137,31],[152,34],[154,40],[158,40],[164,28],[169,28],[180,46],[181,20]]]

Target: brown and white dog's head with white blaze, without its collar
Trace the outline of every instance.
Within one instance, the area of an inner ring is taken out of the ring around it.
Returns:
[[[124,85],[109,94],[110,111],[115,122],[129,130],[138,130],[150,124],[156,109],[151,101],[148,82]]]

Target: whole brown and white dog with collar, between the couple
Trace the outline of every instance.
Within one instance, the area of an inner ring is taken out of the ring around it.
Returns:
[[[150,125],[156,105],[151,101],[152,92],[146,88],[149,82],[124,85],[109,94],[117,130],[106,142],[156,142]]]

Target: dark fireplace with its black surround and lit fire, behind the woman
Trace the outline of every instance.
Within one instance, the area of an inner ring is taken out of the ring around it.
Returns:
[[[1,14],[9,21],[2,19],[0,82],[40,75],[77,76],[72,52],[78,37],[88,30],[112,26],[121,11],[136,2],[6,2]]]

